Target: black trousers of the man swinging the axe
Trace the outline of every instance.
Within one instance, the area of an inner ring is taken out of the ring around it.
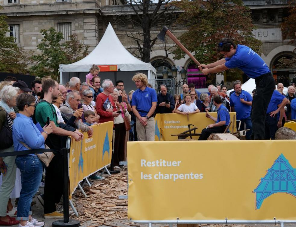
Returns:
[[[271,73],[263,74],[255,79],[256,92],[253,97],[251,120],[252,134],[251,140],[265,139],[265,115],[273,91],[276,87]]]

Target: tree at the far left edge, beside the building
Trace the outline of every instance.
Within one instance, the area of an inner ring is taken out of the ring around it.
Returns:
[[[6,35],[9,32],[6,19],[5,15],[0,15],[0,71],[27,73],[26,52],[17,46],[13,36]]]

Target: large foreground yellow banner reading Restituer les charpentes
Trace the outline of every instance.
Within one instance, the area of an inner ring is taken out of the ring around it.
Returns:
[[[128,142],[134,222],[296,222],[295,140]]]

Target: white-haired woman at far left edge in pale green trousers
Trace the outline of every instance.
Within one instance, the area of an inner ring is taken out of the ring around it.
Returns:
[[[0,131],[7,125],[8,130],[12,133],[12,124],[16,118],[13,106],[16,106],[16,98],[20,88],[13,87],[11,85],[4,86],[0,91]],[[32,96],[33,97],[33,96]],[[35,98],[34,98],[35,99]],[[7,138],[0,138],[0,140],[6,140]],[[12,141],[11,141],[12,142]],[[14,147],[11,146],[3,149],[0,148],[0,152],[12,152]],[[15,156],[4,157],[3,161],[7,165],[7,172],[3,175],[2,185],[0,188],[0,225],[16,225],[19,222],[14,218],[7,216],[6,209],[9,197],[14,188],[15,177],[16,177],[16,165]]]

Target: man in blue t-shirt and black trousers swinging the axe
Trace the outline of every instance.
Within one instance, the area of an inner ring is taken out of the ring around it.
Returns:
[[[255,79],[256,92],[251,109],[253,125],[251,139],[264,140],[265,114],[275,87],[270,69],[255,51],[244,45],[235,45],[230,38],[223,38],[219,41],[217,52],[223,54],[225,58],[207,65],[201,64],[198,67],[204,75],[239,68],[248,77]]]

